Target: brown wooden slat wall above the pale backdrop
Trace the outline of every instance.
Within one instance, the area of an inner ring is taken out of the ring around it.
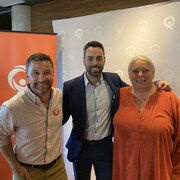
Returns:
[[[169,0],[54,0],[33,5],[32,32],[52,33],[52,20],[126,9]]]

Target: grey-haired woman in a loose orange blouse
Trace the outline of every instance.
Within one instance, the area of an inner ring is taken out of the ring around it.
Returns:
[[[132,87],[120,89],[113,120],[113,180],[180,180],[180,101],[152,83],[145,56],[129,64]]]

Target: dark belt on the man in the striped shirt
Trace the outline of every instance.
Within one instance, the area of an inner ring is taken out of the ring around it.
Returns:
[[[34,164],[25,164],[25,163],[22,163],[22,162],[19,162],[22,166],[26,166],[26,167],[30,167],[30,168],[40,168],[40,169],[44,169],[44,170],[48,170],[50,169],[58,160],[59,158],[61,157],[58,156],[54,161],[52,161],[51,163],[49,164],[39,164],[39,165],[34,165]]]

